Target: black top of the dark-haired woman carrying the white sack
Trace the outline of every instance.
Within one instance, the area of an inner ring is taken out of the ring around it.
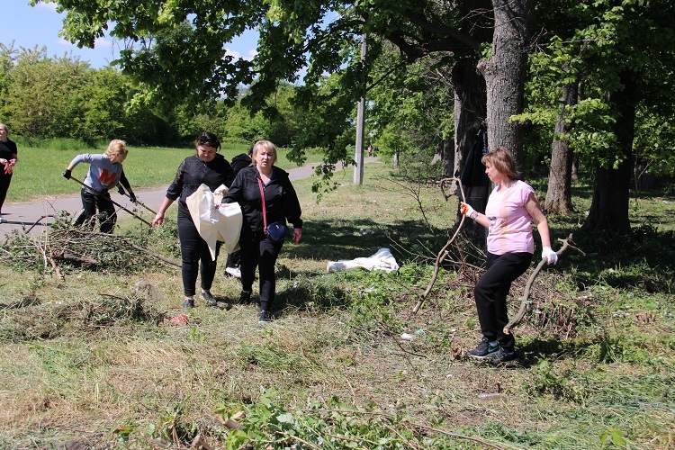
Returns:
[[[171,200],[180,198],[178,206],[187,209],[185,199],[192,195],[200,185],[206,184],[211,191],[214,191],[220,184],[229,186],[233,179],[232,166],[220,153],[216,153],[216,157],[208,163],[194,154],[192,157],[186,157],[178,166],[174,181],[166,190],[166,198]]]

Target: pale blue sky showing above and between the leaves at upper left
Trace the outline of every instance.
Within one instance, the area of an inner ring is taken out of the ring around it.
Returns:
[[[94,43],[94,49],[78,49],[75,44],[58,37],[65,14],[56,12],[56,4],[30,6],[28,0],[0,0],[0,43],[14,49],[45,47],[47,56],[79,58],[91,67],[101,68],[120,56],[117,43],[107,35]],[[234,57],[253,58],[257,33],[247,31],[225,48]]]

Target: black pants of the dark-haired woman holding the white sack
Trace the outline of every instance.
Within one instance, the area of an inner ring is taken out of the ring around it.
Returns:
[[[190,211],[182,206],[178,207],[178,238],[181,242],[181,275],[183,275],[183,293],[192,297],[197,284],[197,274],[202,276],[203,291],[210,291],[213,278],[216,276],[218,254],[222,243],[216,243],[216,258],[211,259],[211,251],[206,241],[202,239],[194,226]],[[200,264],[202,267],[200,269]]]

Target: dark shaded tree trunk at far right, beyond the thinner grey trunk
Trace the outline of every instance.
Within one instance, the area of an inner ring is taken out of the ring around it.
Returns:
[[[623,72],[621,91],[609,94],[609,102],[617,108],[615,133],[621,162],[616,169],[599,166],[596,171],[593,201],[589,217],[582,229],[608,230],[615,233],[630,231],[628,204],[630,178],[633,174],[633,139],[635,136],[635,107],[637,105],[637,83],[635,74]]]

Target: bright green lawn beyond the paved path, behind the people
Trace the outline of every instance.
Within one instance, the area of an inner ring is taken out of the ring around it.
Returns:
[[[76,147],[76,150],[71,150],[71,147]],[[104,150],[104,143],[101,148],[87,149],[82,148],[80,143],[68,143],[63,139],[40,144],[40,147],[19,147],[19,163],[14,168],[7,202],[25,202],[44,196],[77,193],[79,186],[68,182],[61,173],[76,155],[103,153]],[[232,157],[246,153],[247,150],[247,146],[243,144],[224,144],[220,153],[231,161]],[[193,153],[194,148],[130,147],[129,156],[124,161],[124,172],[134,189],[166,187],[174,179],[180,162]],[[320,155],[315,153],[308,154],[307,157],[308,163],[321,160]],[[286,170],[297,167],[286,158],[284,149],[279,149],[276,165]],[[79,165],[73,171],[73,176],[83,181],[87,170],[87,165]]]

